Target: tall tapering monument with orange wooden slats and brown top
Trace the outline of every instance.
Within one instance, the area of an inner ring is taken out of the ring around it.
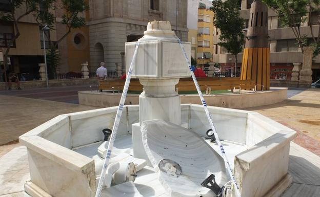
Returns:
[[[257,90],[262,90],[262,87],[269,90],[268,7],[260,0],[254,0],[251,4],[246,38],[241,79],[255,80]]]

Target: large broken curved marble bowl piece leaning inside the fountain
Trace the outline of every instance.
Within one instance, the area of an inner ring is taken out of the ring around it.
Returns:
[[[215,175],[221,187],[228,181],[223,158],[192,130],[156,119],[144,121],[141,132],[146,154],[169,196],[214,196],[201,186],[210,174]],[[170,173],[159,169],[159,162],[164,159],[176,163],[173,168],[179,165],[181,173],[174,174],[172,167]]]

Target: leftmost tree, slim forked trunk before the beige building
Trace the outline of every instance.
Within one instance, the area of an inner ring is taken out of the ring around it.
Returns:
[[[8,21],[13,23],[14,26],[14,34],[12,38],[9,40],[7,46],[4,51],[4,72],[5,72],[5,81],[7,82],[7,65],[8,65],[8,54],[10,52],[11,47],[14,45],[15,40],[20,36],[19,21],[26,15],[32,13],[36,9],[35,0],[7,0],[6,4],[10,8],[9,12],[0,12],[0,20]],[[18,12],[17,12],[18,11]],[[2,70],[0,69],[0,81],[2,79]],[[7,84],[6,84],[7,85]]]

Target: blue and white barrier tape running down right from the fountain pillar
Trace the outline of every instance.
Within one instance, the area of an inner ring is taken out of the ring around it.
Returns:
[[[213,121],[212,121],[211,115],[210,115],[210,113],[209,113],[209,110],[208,110],[208,107],[207,107],[207,103],[206,103],[206,101],[205,101],[205,99],[204,99],[204,97],[203,97],[203,94],[202,94],[202,92],[201,92],[201,89],[200,89],[200,87],[199,87],[199,84],[198,84],[198,82],[197,82],[197,80],[196,80],[196,78],[195,78],[195,75],[194,75],[193,71],[192,71],[191,63],[190,63],[190,60],[189,60],[188,55],[187,55],[187,53],[186,53],[186,50],[185,50],[185,48],[184,48],[181,40],[180,40],[177,36],[175,36],[175,38],[178,40],[178,43],[179,43],[179,45],[180,45],[180,48],[181,48],[181,50],[182,50],[182,52],[183,52],[183,54],[184,54],[184,56],[185,56],[185,59],[186,59],[186,61],[187,61],[188,66],[189,66],[189,69],[190,69],[190,73],[191,73],[193,82],[194,82],[195,87],[196,87],[196,89],[197,89],[198,95],[199,95],[199,97],[200,97],[200,99],[201,99],[201,101],[202,101],[202,104],[203,104],[203,106],[204,106],[204,108],[205,108],[205,112],[206,112],[207,118],[208,118],[208,120],[209,120],[210,126],[211,126],[212,131],[213,131],[214,136],[215,136],[215,141],[216,141],[216,143],[218,144],[218,146],[220,147],[221,155],[222,155],[222,157],[223,157],[223,159],[224,159],[224,161],[225,161],[225,165],[226,165],[227,170],[228,170],[228,172],[229,172],[231,181],[232,181],[232,183],[233,183],[233,185],[234,185],[236,194],[237,194],[238,197],[241,197],[241,192],[240,192],[240,189],[239,189],[239,185],[237,184],[237,182],[236,182],[236,180],[235,180],[235,177],[234,177],[234,174],[233,174],[231,165],[230,165],[230,163],[229,163],[229,161],[228,161],[228,159],[227,159],[227,155],[226,155],[226,153],[225,153],[225,149],[224,149],[224,147],[223,147],[223,145],[222,145],[222,143],[221,143],[221,141],[220,141],[220,139],[219,139],[219,137],[218,137],[218,134],[216,133],[216,129],[215,129],[215,126],[213,125]]]

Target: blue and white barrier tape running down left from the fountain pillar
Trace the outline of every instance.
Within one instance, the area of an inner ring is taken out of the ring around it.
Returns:
[[[101,195],[101,190],[102,190],[102,187],[103,187],[103,183],[105,181],[105,174],[106,174],[107,167],[109,165],[109,160],[110,160],[110,157],[111,157],[113,143],[114,143],[114,140],[115,140],[115,137],[116,137],[116,134],[117,134],[117,130],[118,130],[118,127],[119,127],[119,122],[120,122],[121,115],[122,115],[122,112],[123,112],[123,109],[124,109],[124,105],[125,105],[125,101],[126,101],[126,97],[127,97],[127,92],[128,92],[128,89],[129,89],[131,74],[132,74],[132,68],[133,68],[133,64],[135,63],[135,58],[136,58],[137,50],[138,50],[138,47],[139,47],[139,43],[140,42],[138,40],[137,43],[136,43],[136,46],[135,46],[135,50],[134,50],[134,53],[133,53],[132,61],[130,63],[130,67],[129,67],[127,79],[126,79],[126,82],[125,82],[124,90],[123,90],[123,93],[122,93],[122,96],[121,96],[121,99],[120,99],[119,107],[118,107],[118,110],[117,110],[117,113],[116,113],[116,116],[115,116],[115,120],[114,120],[114,124],[113,124],[113,128],[112,128],[112,133],[111,133],[109,145],[108,145],[108,148],[107,148],[107,155],[106,155],[106,158],[105,158],[105,161],[104,161],[104,165],[103,165],[103,168],[102,168],[102,171],[101,171],[100,180],[99,180],[99,183],[98,183],[97,191],[95,193],[95,197],[99,197]]]

